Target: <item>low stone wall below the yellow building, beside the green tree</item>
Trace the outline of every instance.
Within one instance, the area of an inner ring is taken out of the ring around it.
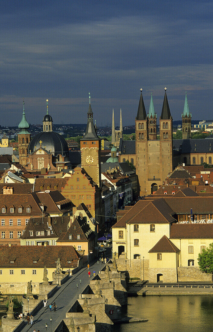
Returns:
[[[200,271],[193,266],[178,267],[179,282],[212,282],[212,274]]]

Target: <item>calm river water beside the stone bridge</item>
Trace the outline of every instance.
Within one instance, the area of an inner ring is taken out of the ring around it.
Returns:
[[[213,331],[213,293],[128,297],[124,310],[128,316],[149,320],[114,325],[114,332]]]

